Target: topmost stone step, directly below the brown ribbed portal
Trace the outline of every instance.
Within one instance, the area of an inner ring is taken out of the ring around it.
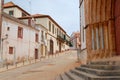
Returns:
[[[120,65],[120,61],[95,61],[95,62],[90,62],[88,64],[95,64],[95,65]]]

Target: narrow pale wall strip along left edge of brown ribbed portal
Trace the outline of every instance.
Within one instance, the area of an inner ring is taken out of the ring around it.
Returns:
[[[85,8],[84,0],[80,0],[80,34],[81,34],[81,53],[80,59],[82,64],[87,62],[87,49],[86,49],[86,30],[85,30]]]

